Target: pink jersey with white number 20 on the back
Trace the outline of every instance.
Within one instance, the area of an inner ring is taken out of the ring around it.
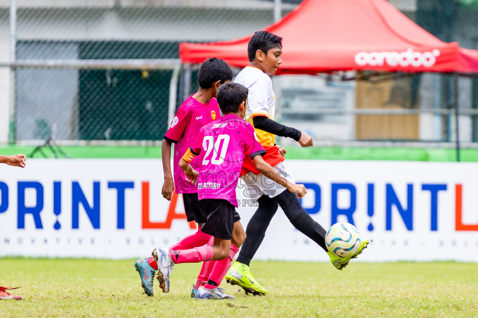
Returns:
[[[199,159],[198,199],[224,199],[238,206],[236,185],[246,155],[266,153],[257,141],[254,127],[246,120],[227,114],[209,123],[198,135],[191,152]]]

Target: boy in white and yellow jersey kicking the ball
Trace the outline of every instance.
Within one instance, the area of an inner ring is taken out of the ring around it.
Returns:
[[[274,144],[275,135],[293,138],[302,147],[314,145],[312,138],[305,132],[284,126],[274,121],[275,95],[269,77],[275,74],[281,65],[282,38],[267,31],[254,33],[248,45],[250,64],[236,76],[234,82],[249,89],[248,105],[245,119],[253,124],[257,138],[266,150],[263,159],[270,164],[282,179],[294,183],[283,163],[284,157]],[[285,152],[283,150],[283,152]],[[229,269],[226,280],[232,285],[239,285],[246,293],[266,295],[267,291],[255,281],[249,271],[250,260],[261,245],[269,223],[281,206],[292,225],[321,246],[330,256],[337,269],[348,265],[351,258],[356,257],[367,246],[364,240],[358,252],[347,258],[334,256],[325,244],[326,230],[307,214],[297,199],[282,185],[272,183],[266,176],[257,171],[252,161],[244,160],[241,177],[248,187],[251,198],[257,199],[259,207],[250,219],[246,228],[246,240],[242,245],[237,262]]]

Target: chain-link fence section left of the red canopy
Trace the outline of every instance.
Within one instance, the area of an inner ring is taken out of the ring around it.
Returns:
[[[179,42],[234,39],[274,21],[272,1],[16,2],[15,59],[28,64],[14,71],[17,141],[161,140]],[[295,5],[283,3],[282,14]],[[182,68],[175,105],[197,90],[196,79],[197,69]]]

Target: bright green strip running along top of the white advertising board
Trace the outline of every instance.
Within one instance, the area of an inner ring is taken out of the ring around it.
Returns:
[[[0,154],[30,155],[34,149],[34,146],[3,145]],[[61,149],[72,158],[161,158],[159,146],[62,146]],[[456,150],[450,148],[289,147],[286,150],[287,159],[456,161]],[[52,157],[46,147],[43,153]],[[43,158],[43,155],[37,152],[34,157]],[[478,162],[478,149],[462,149],[460,159]]]

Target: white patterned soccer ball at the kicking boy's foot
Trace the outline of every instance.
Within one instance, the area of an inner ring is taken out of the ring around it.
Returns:
[[[350,223],[336,223],[327,231],[326,246],[338,257],[353,256],[359,250],[360,233]]]

